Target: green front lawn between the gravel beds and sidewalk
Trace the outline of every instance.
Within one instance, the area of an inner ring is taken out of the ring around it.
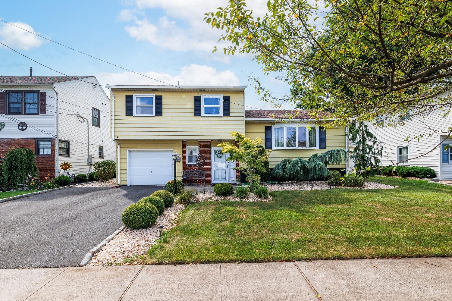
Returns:
[[[452,255],[452,187],[375,178],[397,189],[273,192],[272,202],[202,202],[145,263]]]

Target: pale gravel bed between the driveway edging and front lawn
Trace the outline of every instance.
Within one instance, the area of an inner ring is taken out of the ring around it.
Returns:
[[[155,241],[159,239],[158,226],[163,225],[163,230],[165,231],[177,226],[175,223],[176,218],[184,208],[183,205],[179,204],[165,208],[165,212],[157,218],[155,225],[151,228],[139,230],[124,228],[107,245],[103,246],[98,253],[94,254],[88,266],[121,264],[124,259],[145,254],[152,245],[155,245]],[[124,265],[128,264],[124,263]]]

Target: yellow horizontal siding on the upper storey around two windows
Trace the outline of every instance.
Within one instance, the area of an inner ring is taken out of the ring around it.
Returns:
[[[245,132],[243,92],[221,92],[230,96],[230,116],[193,116],[193,92],[138,92],[113,91],[115,95],[116,139],[174,139],[216,140],[231,139],[232,131]],[[163,116],[126,116],[126,95],[153,93],[162,95]]]

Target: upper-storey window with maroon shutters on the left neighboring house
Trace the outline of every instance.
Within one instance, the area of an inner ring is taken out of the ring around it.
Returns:
[[[38,115],[38,92],[8,92],[8,114]]]

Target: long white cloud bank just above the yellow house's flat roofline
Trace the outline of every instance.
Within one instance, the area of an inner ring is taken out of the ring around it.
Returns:
[[[205,65],[184,66],[177,75],[155,71],[143,74],[155,80],[133,72],[101,72],[96,74],[96,78],[102,85],[177,85],[178,81],[179,85],[240,85],[240,80],[234,72],[217,71],[216,68]]]

